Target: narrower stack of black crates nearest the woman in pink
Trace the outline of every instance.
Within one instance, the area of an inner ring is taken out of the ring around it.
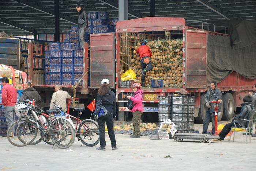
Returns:
[[[158,121],[163,122],[171,118],[171,96],[159,96]]]

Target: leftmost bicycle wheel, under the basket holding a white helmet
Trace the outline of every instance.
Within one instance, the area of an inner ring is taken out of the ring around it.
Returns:
[[[22,119],[14,122],[8,128],[7,139],[12,145],[23,147],[34,141],[37,132],[37,127],[33,121]]]

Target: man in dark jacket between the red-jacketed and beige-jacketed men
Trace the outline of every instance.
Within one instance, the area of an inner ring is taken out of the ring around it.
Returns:
[[[22,92],[22,96],[20,97],[19,102],[23,102],[24,99],[29,99],[29,100],[34,100],[35,101],[35,106],[39,106],[41,104],[42,98],[37,92],[32,87],[31,82],[26,82],[24,85],[25,90]]]

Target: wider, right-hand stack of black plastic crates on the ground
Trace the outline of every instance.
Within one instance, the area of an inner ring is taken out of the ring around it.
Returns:
[[[193,133],[195,96],[172,96],[171,120],[181,133]]]

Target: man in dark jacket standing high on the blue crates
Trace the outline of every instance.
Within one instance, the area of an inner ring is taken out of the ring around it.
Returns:
[[[88,28],[88,16],[86,11],[82,8],[80,4],[76,5],[76,11],[78,12],[79,42],[80,47],[83,48],[84,34]]]

